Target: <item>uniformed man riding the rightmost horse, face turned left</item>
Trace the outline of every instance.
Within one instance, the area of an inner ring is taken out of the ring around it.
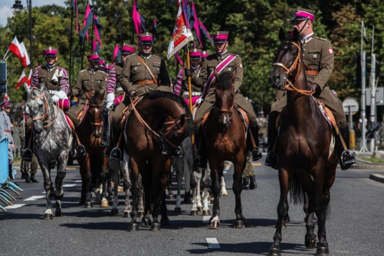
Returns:
[[[291,24],[300,34],[302,44],[303,62],[306,69],[306,77],[309,90],[315,90],[314,96],[324,102],[332,111],[336,124],[343,136],[344,142],[349,148],[349,127],[343,109],[343,102],[332,93],[327,82],[333,70],[333,49],[331,42],[325,38],[315,36],[313,23],[315,11],[298,8]],[[277,90],[275,100],[271,106],[268,118],[268,154],[265,165],[276,169],[278,167],[278,156],[272,151],[277,136],[275,121],[279,113],[287,105],[287,96],[283,90]],[[344,151],[341,143],[337,146],[337,155],[340,157],[342,169],[348,169],[356,163],[352,151]]]

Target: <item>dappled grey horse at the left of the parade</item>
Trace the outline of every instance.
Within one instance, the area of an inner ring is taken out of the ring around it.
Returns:
[[[25,87],[28,98],[27,106],[33,120],[33,151],[40,165],[44,177],[44,189],[46,191],[47,209],[44,220],[52,220],[52,201],[56,199],[55,216],[62,217],[61,199],[63,197],[62,180],[67,173],[67,162],[72,150],[73,131],[67,125],[64,113],[56,106],[51,94],[40,83],[37,87]],[[51,181],[51,166],[49,162],[57,162],[57,174],[54,191]]]

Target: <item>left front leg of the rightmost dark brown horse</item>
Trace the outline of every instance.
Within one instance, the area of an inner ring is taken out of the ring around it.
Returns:
[[[273,236],[273,245],[269,249],[268,255],[280,255],[280,242],[282,240],[281,229],[283,220],[288,212],[288,191],[289,191],[289,173],[286,169],[279,169],[280,200],[278,205],[278,222],[276,223],[276,232]]]

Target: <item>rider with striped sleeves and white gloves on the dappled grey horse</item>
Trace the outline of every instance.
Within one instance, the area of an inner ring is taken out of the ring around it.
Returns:
[[[68,99],[68,93],[70,90],[68,72],[66,69],[57,67],[57,52],[58,50],[49,47],[42,51],[44,53],[45,60],[47,61],[46,65],[40,65],[35,69],[33,73],[31,87],[37,86],[39,83],[43,83],[48,91],[52,95],[52,101],[54,103],[58,102],[61,99]],[[26,110],[28,114],[28,109]],[[32,161],[32,118],[28,116],[26,121],[26,136],[25,136],[25,150],[23,151],[23,159],[25,161]],[[31,175],[31,180],[33,182],[37,182],[35,180],[34,175]]]

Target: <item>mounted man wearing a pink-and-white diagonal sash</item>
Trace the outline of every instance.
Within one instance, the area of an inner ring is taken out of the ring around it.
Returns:
[[[211,88],[210,85],[215,79],[215,76],[212,75],[212,73],[214,72],[214,69],[217,68],[219,73],[232,73],[233,71],[236,71],[236,77],[234,78],[234,91],[236,92],[236,96],[234,98],[234,102],[237,103],[240,108],[242,108],[247,113],[249,118],[249,131],[251,132],[255,142],[258,143],[257,138],[259,137],[259,132],[256,115],[253,111],[251,103],[246,100],[245,97],[240,93],[240,86],[243,81],[243,64],[241,62],[240,56],[228,52],[228,34],[229,33],[226,31],[217,31],[214,34],[213,42],[216,53],[207,56],[206,59],[202,62],[201,76],[199,79],[202,79],[203,83],[206,82],[206,91],[203,91],[202,97],[205,98],[197,109],[195,116],[195,127],[196,131],[198,132],[196,141],[201,141],[202,143],[204,143],[199,138],[201,132],[200,126],[204,115],[211,110],[212,106],[216,101],[215,90]],[[204,147],[200,146],[200,148]],[[255,147],[252,148],[251,151],[253,161],[257,161],[262,158],[260,148]],[[203,152],[199,152],[199,155],[200,158],[197,158],[195,166],[206,168],[206,154]]]

